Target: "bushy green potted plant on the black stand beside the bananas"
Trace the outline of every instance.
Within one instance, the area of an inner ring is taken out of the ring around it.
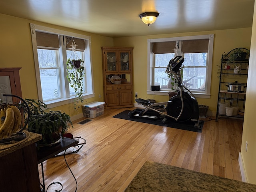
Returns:
[[[47,105],[36,99],[25,99],[30,111],[27,129],[30,132],[42,135],[42,140],[38,146],[52,146],[60,141],[60,138],[68,130],[69,126],[73,127],[70,116],[62,111],[45,112]],[[19,108],[24,110],[24,119],[26,119],[27,108],[24,103],[19,104]]]

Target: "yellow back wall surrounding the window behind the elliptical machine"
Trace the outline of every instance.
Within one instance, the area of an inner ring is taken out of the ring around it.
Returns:
[[[150,27],[150,26],[149,26]],[[212,85],[211,96],[209,99],[197,98],[198,104],[209,106],[208,115],[216,115],[217,97],[218,97],[218,65],[224,52],[228,52],[234,48],[244,47],[250,48],[252,28],[232,29],[232,30],[216,30],[206,32],[190,32],[179,34],[162,34],[150,36],[135,36],[114,38],[114,46],[134,47],[133,50],[133,72],[134,72],[134,92],[138,92],[139,98],[155,99],[157,102],[167,101],[168,96],[148,95],[147,91],[147,39],[169,38],[178,36],[193,36],[214,34],[214,50],[212,62]],[[167,66],[167,64],[166,64]],[[134,98],[135,99],[135,98]]]

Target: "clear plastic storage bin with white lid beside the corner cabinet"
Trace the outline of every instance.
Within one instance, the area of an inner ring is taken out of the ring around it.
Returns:
[[[83,107],[84,117],[96,118],[102,114],[104,114],[104,102],[92,102],[85,105]]]

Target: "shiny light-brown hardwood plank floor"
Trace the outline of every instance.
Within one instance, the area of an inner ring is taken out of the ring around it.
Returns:
[[[73,122],[69,132],[86,139],[77,154],[66,155],[77,192],[122,192],[147,160],[241,181],[242,120],[206,121],[202,133],[197,133],[112,118],[131,109],[105,109],[86,124]],[[44,177],[46,186],[61,182],[62,191],[76,190],[64,156],[44,162]],[[60,186],[53,185],[48,192],[55,189]]]

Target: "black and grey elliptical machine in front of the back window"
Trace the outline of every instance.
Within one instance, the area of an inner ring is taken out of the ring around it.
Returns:
[[[199,106],[195,96],[192,92],[184,86],[182,83],[182,77],[180,70],[183,67],[184,58],[182,56],[176,56],[171,59],[166,67],[166,73],[173,74],[178,81],[179,91],[176,96],[170,98],[167,102],[158,102],[150,104],[150,101],[141,98],[135,99],[135,101],[145,107],[145,109],[135,109],[128,113],[130,118],[143,117],[159,119],[161,116],[162,122],[169,120],[175,120],[177,122],[184,122],[187,124],[194,124],[195,127],[199,127]],[[188,92],[185,92],[186,89]],[[156,110],[153,107],[166,106],[166,113]]]

